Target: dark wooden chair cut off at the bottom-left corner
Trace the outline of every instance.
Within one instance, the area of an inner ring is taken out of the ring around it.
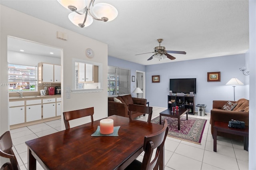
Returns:
[[[9,159],[9,162],[3,164],[1,170],[20,170],[20,166],[12,150],[10,131],[6,131],[0,136],[0,156]]]

